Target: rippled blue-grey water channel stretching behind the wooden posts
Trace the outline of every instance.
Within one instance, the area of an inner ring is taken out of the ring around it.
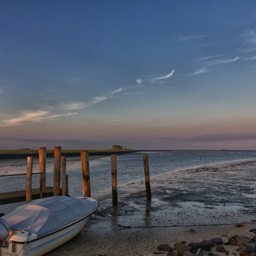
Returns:
[[[149,167],[151,177],[173,170],[189,167],[256,158],[256,151],[150,151]],[[143,179],[143,152],[117,156],[118,185]],[[38,159],[34,159],[33,172],[38,172]],[[52,186],[53,158],[47,158],[46,185]],[[0,175],[26,173],[26,159],[6,159],[0,161]],[[69,174],[69,194],[82,196],[82,174],[79,157],[67,158]],[[110,157],[90,160],[92,195],[111,188]],[[38,175],[33,175],[33,187],[38,186]],[[26,176],[1,177],[0,192],[25,189]]]

